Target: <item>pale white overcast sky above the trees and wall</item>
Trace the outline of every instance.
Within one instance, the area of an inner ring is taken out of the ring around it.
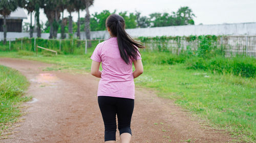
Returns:
[[[103,10],[114,10],[128,13],[139,11],[142,16],[148,16],[154,12],[172,13],[180,7],[188,6],[196,15],[195,24],[222,24],[256,22],[256,0],[94,0],[93,6],[89,8],[90,14],[100,13]],[[27,11],[26,11],[27,13]],[[80,17],[85,16],[80,12]],[[64,12],[64,17],[69,13]],[[30,15],[24,22],[30,22]],[[73,21],[77,21],[78,14],[72,13]],[[33,16],[34,17],[34,16]],[[47,21],[44,10],[40,10],[40,21]],[[34,18],[33,18],[34,22]]]

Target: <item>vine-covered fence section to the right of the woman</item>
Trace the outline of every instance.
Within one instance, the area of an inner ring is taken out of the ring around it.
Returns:
[[[207,39],[207,36],[206,36]],[[256,36],[212,36],[207,42],[213,50],[223,52],[225,56],[244,54],[256,56]],[[182,52],[195,52],[202,45],[202,39],[196,36],[190,37],[139,37],[139,40],[147,49],[169,51],[180,54]]]

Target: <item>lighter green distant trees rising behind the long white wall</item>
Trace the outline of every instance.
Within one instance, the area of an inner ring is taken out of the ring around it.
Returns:
[[[109,10],[103,10],[98,13],[95,12],[91,15],[90,18],[90,30],[91,31],[103,31],[105,28],[105,20],[106,18],[113,14],[117,13],[116,10],[114,12],[110,12]],[[125,20],[125,28],[145,28],[145,27],[161,27],[161,26],[174,26],[174,25],[187,25],[187,24],[195,24],[194,17],[195,14],[188,7],[181,7],[177,12],[172,13],[152,13],[148,16],[141,16],[141,13],[135,11],[135,13],[128,13],[127,11],[117,13],[121,15]],[[64,17],[64,19],[70,19],[69,17]],[[70,33],[71,28],[73,33],[78,31],[78,25],[80,26],[80,31],[85,30],[85,18],[79,18],[79,22],[72,21],[72,27],[70,27],[70,22],[72,19],[68,20],[67,24],[63,28],[64,33]],[[61,24],[62,20],[58,21],[58,24]],[[67,20],[66,20],[67,21]],[[45,28],[43,29],[44,33],[50,32],[50,23],[46,21],[44,23]],[[29,30],[29,23],[25,23],[23,27],[24,31]],[[58,28],[58,33],[61,33],[61,28]]]

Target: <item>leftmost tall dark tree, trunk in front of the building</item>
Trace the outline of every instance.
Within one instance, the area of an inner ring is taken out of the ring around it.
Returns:
[[[6,44],[6,35],[7,35],[7,25],[6,17],[11,14],[12,11],[15,11],[18,7],[18,3],[15,0],[1,0],[0,1],[0,14],[4,17],[4,44]]]

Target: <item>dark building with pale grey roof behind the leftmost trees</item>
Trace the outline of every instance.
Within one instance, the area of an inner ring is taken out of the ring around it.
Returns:
[[[6,17],[7,32],[22,32],[22,21],[27,19],[23,8],[17,8]],[[0,15],[0,32],[3,32],[4,17]]]

